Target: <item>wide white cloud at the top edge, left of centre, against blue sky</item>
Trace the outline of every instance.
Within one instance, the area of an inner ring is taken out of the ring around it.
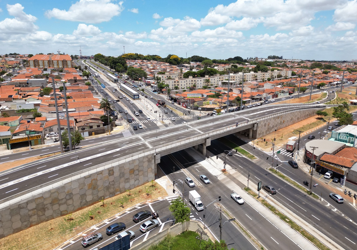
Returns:
[[[72,4],[68,11],[54,8],[47,10],[45,15],[60,20],[100,23],[119,15],[124,10],[122,4],[122,1],[113,4],[111,0],[80,0]]]

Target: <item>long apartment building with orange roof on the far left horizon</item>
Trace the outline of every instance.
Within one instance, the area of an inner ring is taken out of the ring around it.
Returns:
[[[29,58],[31,68],[70,68],[72,58],[70,55],[34,55]]]

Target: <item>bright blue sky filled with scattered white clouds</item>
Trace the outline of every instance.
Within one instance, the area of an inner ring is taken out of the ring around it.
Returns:
[[[357,0],[0,0],[0,54],[353,60],[356,13]]]

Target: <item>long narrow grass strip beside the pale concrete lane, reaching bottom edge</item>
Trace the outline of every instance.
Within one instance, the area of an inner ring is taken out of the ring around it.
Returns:
[[[252,194],[252,190],[250,188],[244,188],[248,194]],[[255,193],[255,192],[253,192]],[[329,250],[327,246],[323,245],[320,240],[318,240],[315,236],[312,234],[308,233],[305,229],[303,229],[301,226],[296,224],[294,221],[292,221],[288,216],[285,214],[281,213],[279,210],[277,210],[273,205],[268,203],[265,199],[257,199],[262,205],[264,205],[266,208],[268,208],[272,213],[277,215],[282,221],[287,223],[292,229],[303,235],[307,240],[309,240],[312,244],[314,244],[318,249],[321,250]]]

